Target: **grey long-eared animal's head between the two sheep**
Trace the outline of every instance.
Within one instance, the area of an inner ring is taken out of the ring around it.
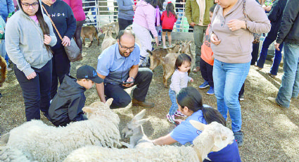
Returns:
[[[134,130],[136,130],[137,127],[140,127],[141,125],[143,125],[149,120],[148,118],[142,119],[144,118],[145,114],[146,114],[146,109],[137,113],[136,116],[134,116],[134,118],[132,118],[132,120],[129,123],[127,123],[125,128],[122,129],[122,137],[127,138],[134,135],[135,132]]]

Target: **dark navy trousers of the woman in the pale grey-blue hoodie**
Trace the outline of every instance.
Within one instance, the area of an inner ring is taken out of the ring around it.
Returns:
[[[15,77],[22,89],[25,115],[27,121],[40,119],[40,111],[48,116],[50,106],[50,89],[52,80],[52,61],[50,60],[42,68],[32,68],[37,74],[31,80],[27,80],[25,74],[14,65]]]

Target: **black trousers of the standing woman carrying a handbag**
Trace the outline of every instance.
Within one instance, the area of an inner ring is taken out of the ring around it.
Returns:
[[[64,48],[52,49],[53,58],[52,58],[52,85],[51,85],[51,99],[54,98],[57,93],[58,80],[59,84],[63,82],[65,75],[70,73],[70,60],[65,53]]]

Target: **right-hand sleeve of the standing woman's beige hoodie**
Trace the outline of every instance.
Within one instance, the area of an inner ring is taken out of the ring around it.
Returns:
[[[250,20],[247,20],[247,29],[250,32],[262,34],[271,29],[271,23],[262,6],[256,1],[246,3],[246,14]]]

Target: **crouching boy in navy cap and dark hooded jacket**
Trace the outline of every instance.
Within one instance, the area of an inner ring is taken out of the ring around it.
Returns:
[[[96,70],[91,66],[77,69],[77,80],[65,75],[63,83],[58,88],[49,108],[49,118],[53,125],[65,126],[72,121],[84,120],[82,108],[85,104],[84,92],[94,83],[101,83]]]

